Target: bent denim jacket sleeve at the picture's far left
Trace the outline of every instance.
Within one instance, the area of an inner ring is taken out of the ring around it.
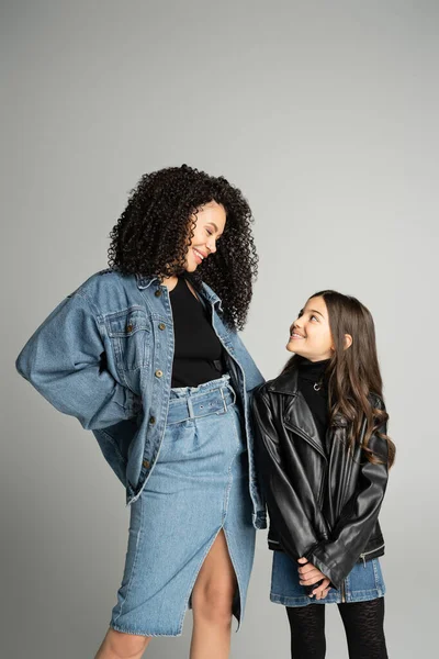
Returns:
[[[99,323],[83,293],[66,298],[31,336],[15,366],[59,412],[87,429],[135,416],[139,399],[105,369]]]

